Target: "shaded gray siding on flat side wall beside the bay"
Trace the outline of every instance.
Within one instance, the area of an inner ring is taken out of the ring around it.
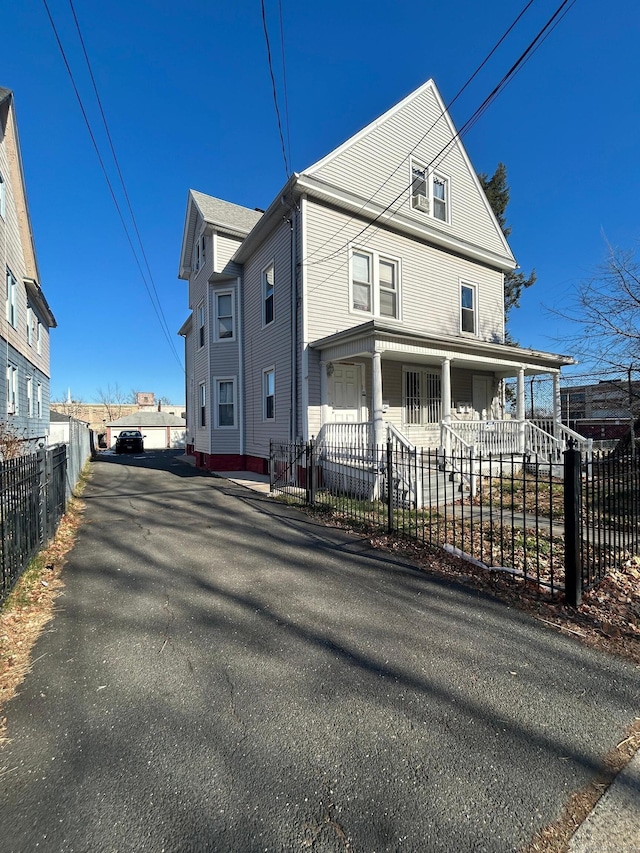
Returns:
[[[262,270],[274,264],[274,321],[262,327]],[[266,458],[291,419],[291,229],[283,222],[244,265],[245,452]],[[274,367],[275,420],[264,421],[262,373]]]

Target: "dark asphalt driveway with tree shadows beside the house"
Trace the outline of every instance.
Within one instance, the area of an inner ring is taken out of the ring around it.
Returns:
[[[102,456],[7,709],[0,851],[514,851],[640,672],[174,453]]]

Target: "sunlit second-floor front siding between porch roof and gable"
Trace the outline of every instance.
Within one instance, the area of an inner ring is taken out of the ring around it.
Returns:
[[[349,219],[340,211],[314,202],[307,205],[306,275],[310,341],[371,319],[370,314],[350,310],[349,251],[343,248],[347,241],[353,241],[355,248],[398,260],[399,329],[406,326],[425,334],[466,338],[460,332],[462,279],[477,287],[478,334],[475,337],[502,341],[503,278],[499,270],[383,228],[368,229],[360,235],[363,227],[362,221]],[[333,252],[337,252],[336,256],[329,257]]]

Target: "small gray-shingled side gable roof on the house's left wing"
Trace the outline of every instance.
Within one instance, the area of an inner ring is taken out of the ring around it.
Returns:
[[[261,218],[262,211],[242,207],[240,204],[205,195],[197,190],[189,190],[178,278],[188,278],[196,227],[200,220],[217,231],[242,239]]]

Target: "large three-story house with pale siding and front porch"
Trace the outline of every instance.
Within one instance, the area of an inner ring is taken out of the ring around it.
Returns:
[[[188,452],[210,469],[266,471],[270,440],[435,447],[489,432],[524,452],[524,378],[536,374],[554,377],[545,440],[557,443],[573,360],[505,345],[515,267],[432,81],[292,175],[264,213],[191,190]]]

